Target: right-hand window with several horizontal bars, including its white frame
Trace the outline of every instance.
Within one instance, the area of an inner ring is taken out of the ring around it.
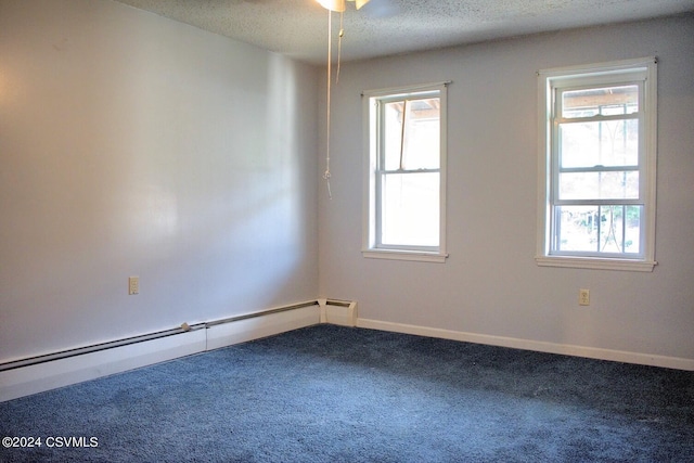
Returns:
[[[656,60],[539,73],[542,266],[655,266]]]

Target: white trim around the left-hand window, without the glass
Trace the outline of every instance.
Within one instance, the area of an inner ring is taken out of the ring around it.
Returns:
[[[414,260],[422,262],[446,262],[446,166],[447,166],[447,88],[450,81],[424,83],[407,87],[394,87],[368,90],[362,93],[362,133],[363,133],[363,192],[362,192],[362,255],[367,258]],[[406,97],[410,93],[439,91],[440,95],[440,167],[439,167],[439,246],[437,250],[380,248],[375,247],[375,163],[372,156],[375,151],[375,140],[371,136],[371,121],[375,110],[370,104],[372,98]]]

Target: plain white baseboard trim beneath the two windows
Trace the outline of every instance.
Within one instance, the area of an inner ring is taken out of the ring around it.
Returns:
[[[466,343],[486,344],[490,346],[511,347],[514,349],[536,350],[548,353],[584,357],[589,359],[609,360],[624,363],[635,363],[676,370],[694,371],[694,359],[680,357],[655,356],[641,352],[601,349],[595,347],[574,346],[567,344],[545,343],[541,340],[519,339],[514,337],[492,336],[477,333],[465,333],[380,320],[357,319],[357,326],[371,330],[390,331],[414,334],[419,336],[439,337]]]

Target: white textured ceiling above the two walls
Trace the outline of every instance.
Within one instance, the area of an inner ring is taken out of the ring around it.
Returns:
[[[309,63],[327,57],[316,0],[117,0]],[[694,0],[371,0],[344,14],[344,61],[694,11]],[[339,14],[333,14],[334,34]]]

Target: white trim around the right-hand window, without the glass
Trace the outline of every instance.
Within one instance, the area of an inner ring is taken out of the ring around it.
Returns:
[[[605,78],[611,74],[631,72],[641,68],[645,72],[644,112],[646,112],[646,128],[643,149],[645,150],[645,240],[643,257],[640,258],[607,258],[607,257],[573,257],[549,254],[550,246],[550,197],[548,184],[552,176],[551,170],[551,82],[576,75],[594,75]],[[581,269],[625,270],[651,272],[657,265],[655,260],[655,229],[656,229],[656,163],[657,163],[657,59],[648,56],[635,60],[613,61],[608,63],[568,66],[538,72],[538,223],[537,223],[537,254],[536,262],[541,267],[564,267]]]

